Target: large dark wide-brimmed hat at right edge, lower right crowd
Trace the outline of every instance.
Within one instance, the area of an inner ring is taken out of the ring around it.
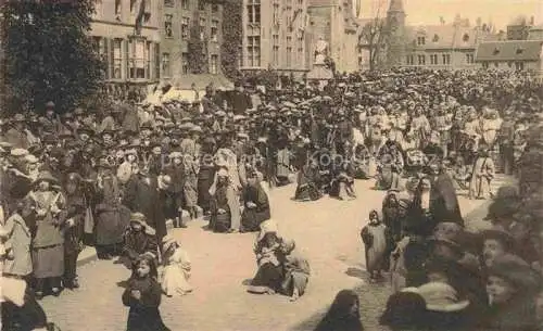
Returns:
[[[496,256],[488,275],[500,277],[521,291],[536,291],[542,282],[541,275],[514,254]]]

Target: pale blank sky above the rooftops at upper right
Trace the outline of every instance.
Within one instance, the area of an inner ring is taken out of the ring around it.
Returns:
[[[356,1],[356,0],[354,0]],[[377,8],[381,14],[390,0],[361,0],[362,17],[375,16]],[[471,25],[477,17],[492,21],[497,29],[505,29],[515,17],[534,16],[535,24],[543,24],[543,0],[403,0],[407,25],[440,24],[440,16],[452,23],[456,14],[469,18]]]

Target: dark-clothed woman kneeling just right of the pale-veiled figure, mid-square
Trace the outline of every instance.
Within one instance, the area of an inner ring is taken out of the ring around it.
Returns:
[[[258,231],[260,225],[269,219],[268,195],[258,182],[258,174],[248,174],[248,186],[243,191],[244,209],[241,214],[241,228],[243,232]]]

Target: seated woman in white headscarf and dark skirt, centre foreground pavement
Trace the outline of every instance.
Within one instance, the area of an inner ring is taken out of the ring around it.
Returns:
[[[261,232],[254,244],[254,254],[258,270],[251,281],[248,292],[254,294],[275,294],[281,289],[283,280],[282,265],[279,262],[281,238],[273,220],[261,225]]]

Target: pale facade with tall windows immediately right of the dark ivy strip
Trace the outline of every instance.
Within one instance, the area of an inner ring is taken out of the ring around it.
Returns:
[[[307,0],[243,0],[242,71],[307,71]]]

